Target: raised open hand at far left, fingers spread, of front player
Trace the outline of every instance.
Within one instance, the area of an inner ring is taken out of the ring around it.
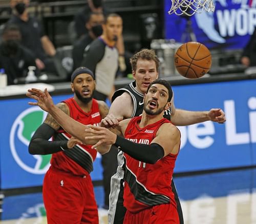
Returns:
[[[51,108],[54,107],[52,97],[47,91],[47,88],[45,89],[45,92],[42,92],[37,88],[28,89],[26,96],[37,101],[29,102],[29,105],[39,106],[41,109],[47,112],[49,112]]]

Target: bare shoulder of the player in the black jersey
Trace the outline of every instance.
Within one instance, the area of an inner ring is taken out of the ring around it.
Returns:
[[[131,118],[133,114],[133,102],[129,93],[124,92],[112,102],[109,114],[123,119]]]

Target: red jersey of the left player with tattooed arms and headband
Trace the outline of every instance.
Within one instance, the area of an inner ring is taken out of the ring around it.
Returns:
[[[70,117],[82,124],[92,124],[99,126],[101,116],[97,100],[92,100],[92,108],[89,113],[85,113],[76,103],[74,98],[65,101]],[[54,140],[69,140],[71,136],[65,130],[60,129],[54,136]],[[93,161],[96,159],[97,151],[91,145],[77,144],[72,149],[60,151],[52,154],[51,165],[55,168],[72,173],[74,175],[88,175],[93,171]]]

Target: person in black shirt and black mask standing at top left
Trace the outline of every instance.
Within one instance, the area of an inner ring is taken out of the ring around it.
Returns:
[[[22,33],[22,44],[34,52],[39,70],[57,75],[53,57],[56,50],[49,37],[44,33],[39,20],[28,13],[30,0],[11,0],[13,11],[9,24],[16,24]]]

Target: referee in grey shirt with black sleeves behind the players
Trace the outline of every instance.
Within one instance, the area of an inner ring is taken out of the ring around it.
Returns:
[[[117,38],[122,33],[122,18],[115,13],[109,14],[102,25],[103,33],[95,39],[84,55],[82,66],[86,66],[95,74],[96,90],[94,98],[105,101],[111,98],[115,90],[115,77],[118,71]],[[102,155],[104,208],[109,207],[111,176],[117,168],[117,150],[111,148],[110,153]]]

